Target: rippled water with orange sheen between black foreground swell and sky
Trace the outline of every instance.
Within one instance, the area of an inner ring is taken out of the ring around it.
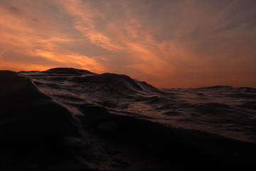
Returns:
[[[64,104],[74,115],[80,115],[77,104],[91,104],[117,115],[256,142],[255,88],[158,89],[113,74],[28,76],[43,93]]]

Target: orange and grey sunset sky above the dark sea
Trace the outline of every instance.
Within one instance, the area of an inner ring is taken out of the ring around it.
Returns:
[[[0,70],[256,88],[255,0],[0,0]]]

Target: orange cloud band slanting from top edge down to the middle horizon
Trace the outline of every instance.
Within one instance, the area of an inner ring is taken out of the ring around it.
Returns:
[[[140,21],[137,19],[132,17],[125,24],[119,24],[106,19],[104,14],[92,9],[86,2],[61,1],[61,4],[70,15],[75,16],[74,27],[91,43],[107,51],[125,51],[130,54],[129,56],[133,56],[129,58],[132,64],[127,65],[126,68],[134,68],[151,76],[164,74],[173,69],[169,62],[160,57],[164,54],[161,52],[163,45],[153,41],[149,30],[142,31]],[[100,21],[106,22],[106,27],[97,29],[95,18],[101,18]]]

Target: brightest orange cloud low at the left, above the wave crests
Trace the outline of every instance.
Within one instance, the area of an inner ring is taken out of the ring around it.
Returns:
[[[80,40],[72,38],[72,35],[61,33],[43,16],[41,16],[41,22],[38,22],[38,20],[33,20],[36,19],[35,16],[21,12],[21,9],[14,6],[2,5],[0,8],[3,11],[0,21],[1,63],[5,65],[9,63],[10,67],[17,66],[16,69],[11,67],[15,71],[21,66],[23,66],[22,70],[38,70],[55,66],[73,66],[92,71],[102,70],[102,66],[95,59],[63,48],[61,43]],[[3,67],[1,65],[1,68]]]

